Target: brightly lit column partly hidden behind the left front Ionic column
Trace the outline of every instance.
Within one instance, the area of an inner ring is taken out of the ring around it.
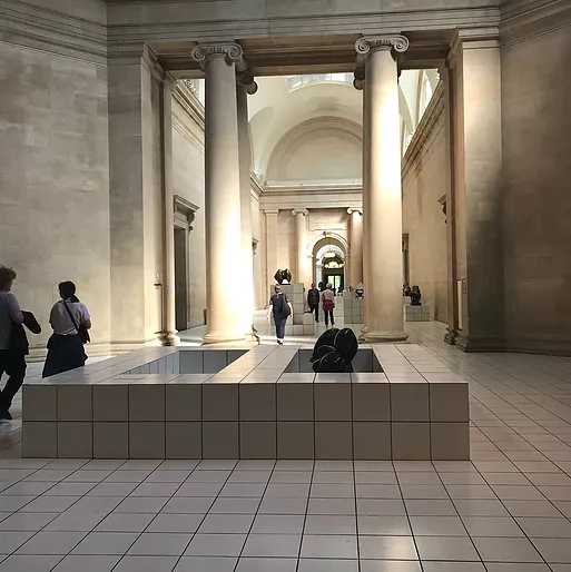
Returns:
[[[246,336],[254,332],[254,257],[252,249],[252,196],[250,167],[252,151],[249,140],[248,93],[257,91],[254,78],[247,73],[238,73],[236,97],[238,108],[238,146],[240,164],[240,218],[242,218],[242,268],[240,290],[244,294],[243,328]]]

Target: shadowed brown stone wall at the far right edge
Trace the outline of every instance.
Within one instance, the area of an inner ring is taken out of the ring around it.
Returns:
[[[571,353],[571,27],[502,49],[505,336]]]

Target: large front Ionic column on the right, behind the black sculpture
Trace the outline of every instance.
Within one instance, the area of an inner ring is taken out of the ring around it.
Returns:
[[[364,254],[365,342],[397,342],[404,333],[402,298],[402,189],[398,76],[403,36],[365,37],[355,49],[365,63]],[[366,198],[365,198],[366,196]]]

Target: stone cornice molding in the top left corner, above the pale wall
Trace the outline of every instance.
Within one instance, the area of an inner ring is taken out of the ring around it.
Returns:
[[[0,40],[95,63],[107,60],[105,21],[79,18],[23,0],[0,0]]]

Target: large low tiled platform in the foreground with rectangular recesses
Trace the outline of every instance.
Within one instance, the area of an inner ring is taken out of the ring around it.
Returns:
[[[467,382],[414,345],[145,348],[23,386],[28,457],[465,460]],[[432,372],[432,373],[431,373]]]

